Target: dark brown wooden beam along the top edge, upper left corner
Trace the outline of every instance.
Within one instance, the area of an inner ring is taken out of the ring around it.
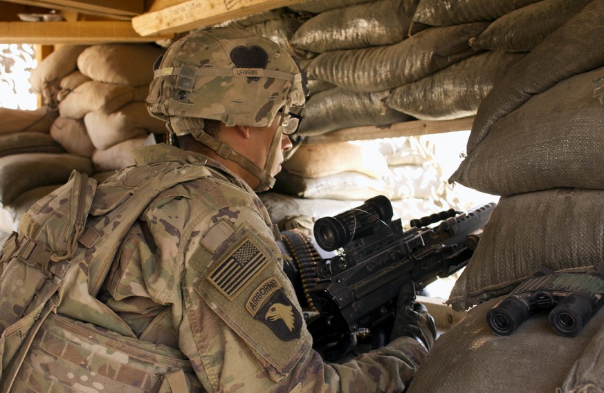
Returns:
[[[70,10],[90,15],[102,15],[116,19],[130,20],[145,12],[145,0],[5,0],[29,6]]]

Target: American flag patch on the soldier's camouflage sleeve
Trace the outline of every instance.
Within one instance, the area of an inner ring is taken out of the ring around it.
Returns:
[[[268,265],[268,258],[248,238],[218,264],[208,276],[208,280],[228,300],[233,300],[266,265]]]

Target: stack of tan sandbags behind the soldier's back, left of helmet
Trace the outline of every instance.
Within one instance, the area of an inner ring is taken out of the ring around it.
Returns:
[[[162,53],[152,44],[65,45],[32,71],[44,106],[0,108],[0,232],[15,231],[21,214],[73,170],[102,181],[134,164],[131,147],[165,133],[145,106]]]

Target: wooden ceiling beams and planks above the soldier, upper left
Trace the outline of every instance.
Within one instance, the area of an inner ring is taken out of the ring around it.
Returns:
[[[0,42],[50,45],[158,41],[193,28],[211,26],[299,1],[0,1]],[[57,18],[63,20],[57,21]]]

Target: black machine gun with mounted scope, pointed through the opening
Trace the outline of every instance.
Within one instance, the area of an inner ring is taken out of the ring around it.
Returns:
[[[466,266],[494,207],[450,209],[412,220],[412,229],[403,231],[401,220],[392,220],[390,200],[378,195],[317,220],[317,244],[339,253],[318,262],[317,280],[307,291],[319,313],[308,323],[315,349],[337,361],[358,338],[370,337],[373,348],[385,345],[403,283],[412,280],[420,290]]]

